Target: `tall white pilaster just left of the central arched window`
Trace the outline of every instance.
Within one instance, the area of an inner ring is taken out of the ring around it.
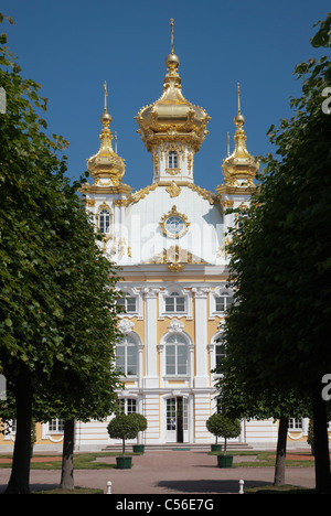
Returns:
[[[158,388],[158,293],[157,288],[146,288],[145,292],[145,388]]]

